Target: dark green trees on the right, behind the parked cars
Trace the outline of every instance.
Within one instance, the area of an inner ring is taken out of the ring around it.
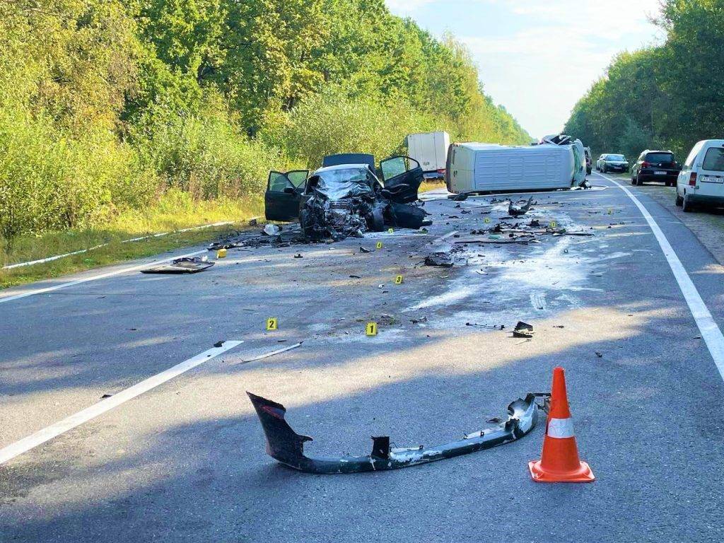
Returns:
[[[638,156],[723,138],[724,0],[665,0],[660,46],[620,54],[576,104],[565,132],[597,152]]]

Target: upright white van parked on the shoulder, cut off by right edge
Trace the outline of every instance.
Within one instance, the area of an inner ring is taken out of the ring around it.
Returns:
[[[676,180],[676,205],[724,206],[724,140],[702,140],[691,148]]]

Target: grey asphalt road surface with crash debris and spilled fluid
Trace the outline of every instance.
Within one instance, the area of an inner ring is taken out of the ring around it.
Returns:
[[[0,451],[216,342],[243,343],[0,465],[0,541],[719,541],[724,382],[641,211],[589,180],[597,188],[535,195],[530,215],[594,236],[470,245],[452,269],[422,261],[507,206],[429,201],[427,234],[231,250],[201,274],[134,269],[3,302],[96,271],[1,292]],[[721,327],[724,267],[646,187],[631,192]],[[510,337],[518,320],[533,340]],[[399,471],[298,473],[266,455],[245,395],[284,403],[314,437],[309,454],[366,454],[371,435],[434,445],[488,426],[516,397],[548,390],[556,365],[592,484],[531,481],[542,426]]]

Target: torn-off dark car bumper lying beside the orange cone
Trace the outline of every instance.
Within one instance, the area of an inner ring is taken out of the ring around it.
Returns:
[[[408,468],[418,464],[443,460],[469,452],[505,445],[525,436],[536,426],[539,406],[536,397],[548,394],[529,394],[508,405],[508,419],[463,439],[434,447],[392,448],[389,436],[372,437],[372,452],[365,456],[309,457],[304,455],[304,442],[312,438],[297,434],[285,420],[284,405],[247,392],[261,427],[266,434],[266,452],[286,466],[307,473],[358,473]]]

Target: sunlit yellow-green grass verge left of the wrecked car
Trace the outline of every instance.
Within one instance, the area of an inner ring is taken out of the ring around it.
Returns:
[[[213,240],[223,232],[238,229],[248,219],[264,215],[264,201],[250,198],[243,201],[219,200],[194,202],[185,195],[172,194],[161,198],[155,206],[144,211],[122,213],[104,227],[48,232],[42,235],[23,235],[12,240],[0,238],[0,266],[33,261],[63,253],[72,253],[107,243],[87,253],[66,256],[43,264],[0,269],[0,288],[22,285],[85,271],[99,266],[116,264],[132,258],[142,258],[190,245]],[[233,222],[190,232],[174,232],[216,222]],[[171,232],[162,237],[150,237],[123,243],[133,237]]]

